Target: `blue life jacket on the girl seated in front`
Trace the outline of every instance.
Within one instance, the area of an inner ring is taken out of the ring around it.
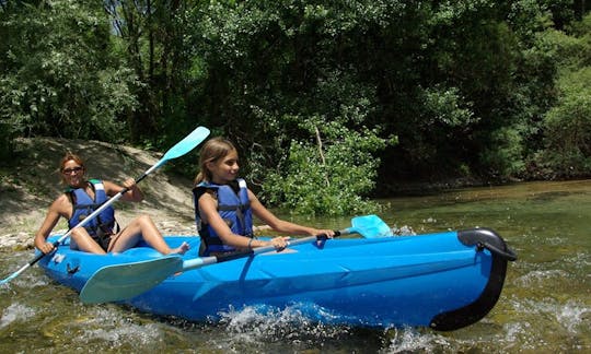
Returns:
[[[205,246],[201,247],[201,256],[209,256],[210,252],[233,252],[236,249],[224,245],[216,231],[209,224],[205,224],[201,215],[199,215],[199,197],[207,190],[216,192],[218,212],[230,229],[232,229],[232,233],[253,237],[253,212],[248,200],[246,181],[242,178],[237,178],[231,185],[216,185],[204,181],[193,189],[195,222],[197,232],[201,237],[201,244]]]

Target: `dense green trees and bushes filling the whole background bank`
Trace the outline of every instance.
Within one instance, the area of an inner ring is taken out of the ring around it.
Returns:
[[[202,125],[237,143],[265,201],[303,213],[369,211],[366,198],[396,179],[586,176],[591,19],[575,21],[586,11],[570,0],[5,1],[1,139],[165,150]],[[196,157],[177,169],[193,175]]]

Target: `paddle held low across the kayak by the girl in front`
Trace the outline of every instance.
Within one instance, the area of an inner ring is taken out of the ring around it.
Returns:
[[[351,227],[336,231],[335,237],[357,233],[367,238],[374,238],[380,235],[376,234],[378,231],[384,231],[385,225],[375,215],[356,216],[352,219],[351,224]],[[385,226],[387,227],[387,225]],[[326,240],[326,235],[296,238],[290,240],[289,245],[296,246],[313,240]],[[157,286],[175,273],[274,250],[275,247],[267,246],[244,252],[199,257],[186,261],[183,261],[179,256],[167,256],[132,263],[106,266],[99,269],[89,279],[80,292],[80,299],[85,304],[100,304],[131,298]]]

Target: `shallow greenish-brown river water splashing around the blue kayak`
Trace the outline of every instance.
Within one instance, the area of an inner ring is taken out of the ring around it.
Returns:
[[[571,353],[591,352],[591,180],[459,189],[382,201],[380,216],[416,233],[497,231],[518,253],[497,306],[453,332],[323,326],[297,311],[229,312],[218,323],[82,305],[34,267],[0,286],[2,353]],[[311,223],[311,221],[296,220]],[[350,219],[315,220],[344,228]],[[0,252],[1,276],[32,258]]]

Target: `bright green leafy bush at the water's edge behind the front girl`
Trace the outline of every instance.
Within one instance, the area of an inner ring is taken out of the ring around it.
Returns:
[[[378,204],[362,196],[373,189],[380,165],[372,153],[384,149],[386,140],[375,130],[354,131],[325,117],[285,118],[300,121],[320,141],[291,140],[286,158],[265,178],[266,200],[308,215],[375,212]]]

